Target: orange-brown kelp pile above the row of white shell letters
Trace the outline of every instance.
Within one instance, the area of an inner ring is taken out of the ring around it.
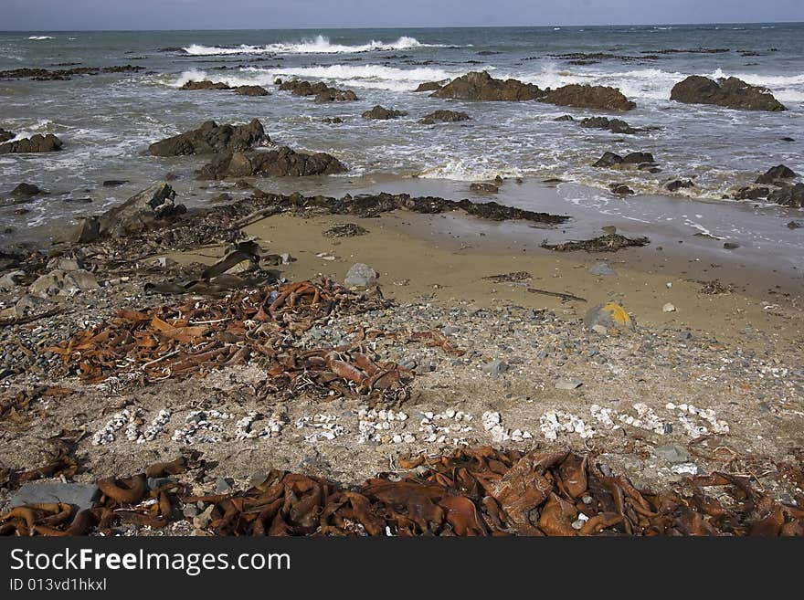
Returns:
[[[87,383],[112,374],[139,374],[150,381],[204,374],[261,357],[271,392],[313,387],[320,396],[356,392],[398,401],[407,397],[413,374],[396,363],[372,360],[360,352],[359,340],[309,351],[294,345],[297,334],[335,314],[386,305],[330,279],[301,281],[238,291],[222,300],[122,309],[110,321],[46,350],[58,353],[66,368],[77,365]]]

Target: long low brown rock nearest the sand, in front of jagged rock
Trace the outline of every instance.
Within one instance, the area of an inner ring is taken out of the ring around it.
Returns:
[[[346,167],[327,153],[297,153],[287,146],[268,152],[221,153],[198,172],[199,179],[227,177],[304,177],[345,173]]]

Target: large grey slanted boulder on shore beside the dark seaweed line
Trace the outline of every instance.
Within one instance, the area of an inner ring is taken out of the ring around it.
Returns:
[[[175,191],[170,185],[153,184],[101,215],[99,235],[139,233],[186,211],[185,205],[175,204]]]

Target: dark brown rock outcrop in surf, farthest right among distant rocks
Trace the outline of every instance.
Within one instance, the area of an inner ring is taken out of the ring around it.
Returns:
[[[745,111],[788,110],[773,97],[769,89],[749,85],[735,77],[715,80],[692,75],[673,86],[670,100],[688,104],[715,104]]]

